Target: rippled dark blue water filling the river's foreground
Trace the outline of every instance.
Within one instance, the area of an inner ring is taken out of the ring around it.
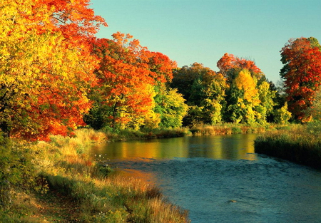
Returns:
[[[118,162],[152,174],[192,222],[317,222],[321,173],[283,160],[203,157]]]

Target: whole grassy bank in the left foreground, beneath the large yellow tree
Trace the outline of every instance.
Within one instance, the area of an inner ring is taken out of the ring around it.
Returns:
[[[0,222],[189,222],[187,212],[167,202],[157,187],[113,175],[86,155],[93,142],[106,138],[83,129],[76,138],[54,136],[50,143],[28,145],[34,186],[41,187],[24,190],[12,180],[0,193],[8,198]],[[61,205],[66,208],[54,208]]]

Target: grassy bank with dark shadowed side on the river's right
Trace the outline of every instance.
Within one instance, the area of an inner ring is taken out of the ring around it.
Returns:
[[[320,125],[290,125],[260,135],[255,152],[321,169],[320,136]]]

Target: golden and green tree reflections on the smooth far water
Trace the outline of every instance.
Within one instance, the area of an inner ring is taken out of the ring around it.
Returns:
[[[147,141],[108,142],[93,147],[92,153],[110,160],[137,158],[172,159],[173,157],[206,157],[215,160],[256,160],[255,134],[212,135]]]

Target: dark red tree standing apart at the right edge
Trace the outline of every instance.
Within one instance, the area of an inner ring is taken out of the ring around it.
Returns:
[[[315,38],[290,39],[282,48],[283,78],[290,112],[304,120],[305,110],[315,100],[321,80],[320,45]]]

